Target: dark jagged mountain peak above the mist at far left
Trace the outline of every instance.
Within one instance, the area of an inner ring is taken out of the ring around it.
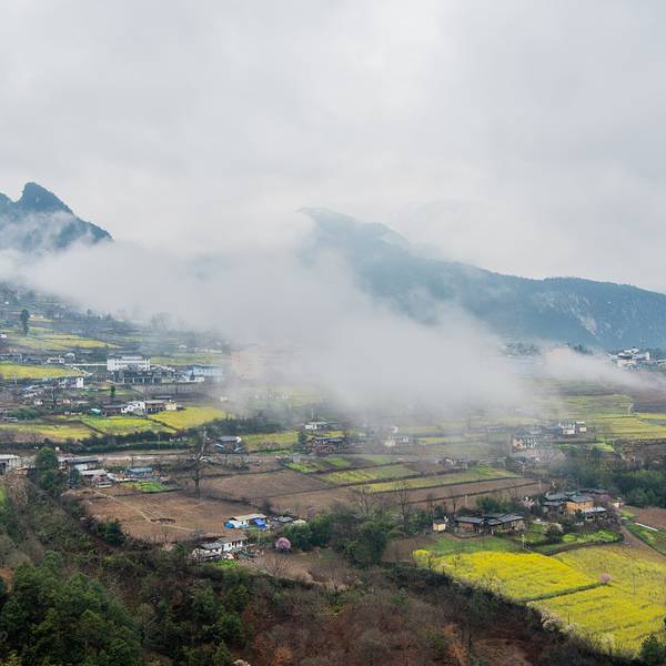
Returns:
[[[78,218],[38,183],[26,183],[18,201],[0,193],[0,250],[50,252],[108,240],[108,231]]]

